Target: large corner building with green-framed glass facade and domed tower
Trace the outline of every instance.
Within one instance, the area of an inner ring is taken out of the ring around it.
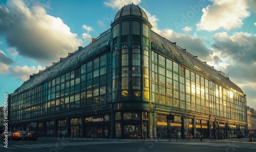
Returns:
[[[151,28],[140,7],[122,7],[110,30],[11,94],[10,130],[88,138],[168,138],[168,127],[177,138],[243,134],[243,91]]]

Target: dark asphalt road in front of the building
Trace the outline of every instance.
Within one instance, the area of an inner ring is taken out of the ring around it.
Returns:
[[[255,152],[256,142],[246,141],[209,141],[209,142],[137,142],[137,141],[82,141],[38,139],[37,141],[8,141],[8,148],[0,142],[0,151],[3,152],[75,152],[75,151],[197,151],[197,152]]]

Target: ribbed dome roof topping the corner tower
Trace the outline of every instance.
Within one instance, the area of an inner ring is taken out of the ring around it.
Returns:
[[[134,5],[134,4],[129,4],[129,5],[123,6],[117,12],[114,20],[116,20],[120,17],[123,17],[123,16],[127,16],[127,15],[138,16],[138,17],[142,17],[142,18],[145,18],[146,20],[148,20],[146,13],[138,5]]]

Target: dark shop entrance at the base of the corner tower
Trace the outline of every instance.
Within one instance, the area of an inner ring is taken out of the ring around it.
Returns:
[[[124,138],[135,138],[141,136],[141,125],[140,124],[123,124],[123,135]]]

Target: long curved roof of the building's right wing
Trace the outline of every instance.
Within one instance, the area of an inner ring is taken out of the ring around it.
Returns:
[[[180,62],[183,62],[184,64],[188,65],[191,68],[194,68],[197,71],[200,71],[207,77],[212,78],[220,84],[224,86],[226,85],[230,88],[233,88],[234,90],[243,93],[243,91],[236,84],[231,82],[223,72],[215,70],[213,67],[207,65],[206,62],[202,62],[201,60],[197,59],[197,57],[189,54],[186,49],[182,49],[179,46],[176,46],[176,43],[170,42],[169,40],[155,33],[154,31],[151,31],[151,42],[157,44],[157,47],[161,47],[159,48],[159,50],[161,50],[165,54],[176,58]]]

